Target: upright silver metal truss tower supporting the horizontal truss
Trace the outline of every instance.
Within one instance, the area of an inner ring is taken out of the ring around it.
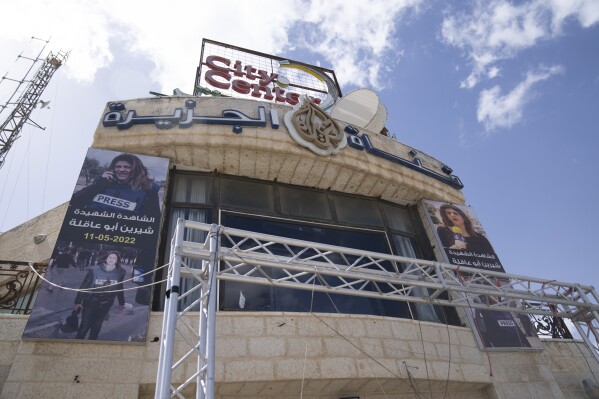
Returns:
[[[193,222],[183,219],[177,221],[177,228],[171,244],[169,278],[167,280],[166,301],[162,323],[162,339],[160,358],[156,378],[156,399],[171,397],[183,398],[182,391],[196,384],[197,399],[214,399],[214,369],[216,349],[216,275],[219,262],[220,226],[212,225],[206,242],[200,245],[200,252],[189,252],[188,242],[184,241],[185,228]],[[201,259],[201,268],[189,267],[191,259]],[[188,278],[196,283],[189,291],[180,288],[182,280]],[[178,311],[182,301],[195,291],[199,297]],[[188,323],[187,316],[199,313],[198,329],[195,331]],[[189,350],[179,359],[175,359],[175,340],[180,337],[187,343]],[[171,384],[172,373],[177,367],[193,355],[197,355],[197,371],[182,384],[174,387]]]

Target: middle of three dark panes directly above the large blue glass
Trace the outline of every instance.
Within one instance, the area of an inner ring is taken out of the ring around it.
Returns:
[[[284,215],[331,219],[329,200],[325,193],[279,187],[279,194],[281,213]]]

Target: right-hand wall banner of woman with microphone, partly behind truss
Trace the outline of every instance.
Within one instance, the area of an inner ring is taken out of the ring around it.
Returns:
[[[436,201],[422,201],[428,223],[435,232],[437,245],[443,249],[445,262],[456,266],[504,273],[505,270],[472,208]],[[470,276],[463,273],[461,278]],[[496,279],[496,285],[509,284]],[[497,303],[489,295],[467,295],[471,303]],[[516,303],[513,304],[516,306]],[[481,348],[514,349],[542,347],[526,315],[512,312],[472,309],[467,312]]]

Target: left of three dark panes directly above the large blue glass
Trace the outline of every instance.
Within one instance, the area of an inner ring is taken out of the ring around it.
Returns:
[[[275,209],[271,184],[223,178],[220,180],[220,199],[223,206],[267,212]]]

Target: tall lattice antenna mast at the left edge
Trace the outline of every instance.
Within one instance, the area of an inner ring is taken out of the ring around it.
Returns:
[[[32,37],[32,39],[36,38]],[[0,80],[0,82],[6,79],[18,83],[17,88],[10,96],[10,98],[7,100],[6,104],[0,105],[0,107],[2,107],[2,109],[0,109],[0,114],[5,109],[12,108],[12,111],[10,112],[6,120],[2,122],[2,124],[0,125],[0,168],[2,168],[2,165],[4,165],[6,154],[12,147],[13,143],[19,138],[21,129],[23,128],[23,125],[25,123],[30,123],[35,127],[45,130],[45,128],[41,127],[40,125],[38,125],[30,119],[31,112],[40,102],[40,96],[42,95],[46,86],[48,86],[48,83],[50,83],[50,79],[52,78],[52,75],[54,75],[54,72],[56,72],[56,70],[60,68],[60,66],[67,60],[69,52],[59,51],[56,54],[50,52],[45,59],[40,58],[44,49],[46,48],[46,45],[48,44],[48,40],[43,41],[45,42],[44,47],[42,47],[37,57],[28,58],[20,54],[17,57],[17,60],[19,58],[24,58],[32,62],[31,66],[27,70],[27,73],[25,73],[23,79],[11,79],[7,78],[6,75],[4,75]],[[35,64],[37,64],[38,61],[43,61],[42,66],[37,70],[37,72],[31,80],[27,80],[27,77],[29,76],[33,67],[35,66]],[[17,95],[21,86],[24,84],[27,85],[25,87],[25,90],[21,93],[21,95],[15,102],[12,102],[13,98]]]

